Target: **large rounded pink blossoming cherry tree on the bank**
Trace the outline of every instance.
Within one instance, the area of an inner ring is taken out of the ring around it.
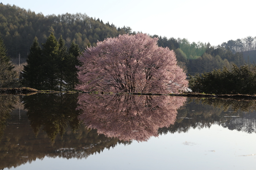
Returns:
[[[188,86],[169,48],[157,46],[157,38],[138,33],[98,42],[79,57],[82,91],[128,93],[179,93]]]

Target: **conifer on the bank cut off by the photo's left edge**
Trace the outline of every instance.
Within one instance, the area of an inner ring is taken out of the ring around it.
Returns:
[[[17,85],[17,73],[13,68],[10,58],[7,56],[4,42],[0,37],[0,88],[15,87]]]

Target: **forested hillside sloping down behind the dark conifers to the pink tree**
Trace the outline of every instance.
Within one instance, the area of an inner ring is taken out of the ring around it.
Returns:
[[[68,47],[75,41],[84,49],[88,43],[95,46],[98,40],[131,33],[131,28],[116,28],[82,13],[44,16],[15,5],[0,4],[0,36],[11,58],[18,58],[19,53],[26,58],[34,37],[44,43],[52,32],[57,39],[62,35]]]

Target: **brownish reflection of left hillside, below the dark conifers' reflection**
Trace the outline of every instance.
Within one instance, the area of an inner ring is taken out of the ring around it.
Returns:
[[[44,131],[35,137],[27,117],[17,121],[17,115],[11,115],[11,120],[7,122],[8,129],[0,140],[0,169],[18,167],[45,157],[87,158],[118,143],[126,144],[117,138],[99,135],[97,130],[82,125],[74,133],[71,127],[67,127],[66,133],[62,137],[58,135],[52,142]]]

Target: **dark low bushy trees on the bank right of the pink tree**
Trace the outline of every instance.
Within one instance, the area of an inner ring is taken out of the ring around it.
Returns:
[[[224,67],[191,76],[189,87],[194,92],[207,94],[256,94],[256,66],[254,64],[238,67],[231,71]]]

